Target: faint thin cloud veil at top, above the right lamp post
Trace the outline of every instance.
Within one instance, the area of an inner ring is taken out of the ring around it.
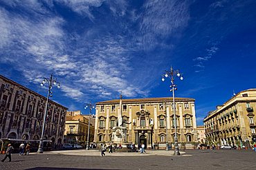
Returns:
[[[156,43],[163,47],[172,47],[159,42],[158,37],[162,41],[178,37],[190,19],[189,6],[188,1],[147,1],[143,6],[145,13],[138,17],[141,20],[138,45],[145,50],[152,50]]]

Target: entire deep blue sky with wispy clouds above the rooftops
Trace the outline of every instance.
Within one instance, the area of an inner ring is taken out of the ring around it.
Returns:
[[[196,99],[196,119],[256,83],[256,1],[0,1],[0,74],[69,109],[118,98]]]

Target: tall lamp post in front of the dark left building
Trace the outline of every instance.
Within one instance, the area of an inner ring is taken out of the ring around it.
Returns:
[[[49,97],[53,96],[52,95],[53,92],[51,91],[51,89],[53,88],[54,85],[57,85],[57,88],[60,89],[60,83],[57,82],[57,78],[53,78],[53,74],[51,74],[50,78],[44,77],[44,80],[42,81],[41,86],[44,86],[45,84],[48,85],[48,94],[47,94],[47,99],[46,99],[46,106],[45,106],[45,109],[44,109],[44,123],[43,123],[43,128],[42,128],[42,134],[41,134],[41,138],[40,138],[37,153],[43,153],[44,152],[44,142],[43,142],[44,127],[45,127],[45,124],[46,124],[46,115],[47,115],[47,110],[48,110],[48,100],[49,100]]]

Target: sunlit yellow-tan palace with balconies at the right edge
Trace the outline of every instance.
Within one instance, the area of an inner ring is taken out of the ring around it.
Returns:
[[[239,92],[203,120],[208,143],[250,147],[255,133],[256,89]]]

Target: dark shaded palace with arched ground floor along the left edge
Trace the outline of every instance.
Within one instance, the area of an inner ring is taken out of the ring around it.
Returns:
[[[42,134],[46,98],[0,75],[0,138],[39,140]],[[64,140],[67,108],[49,100],[44,138],[52,146]]]

